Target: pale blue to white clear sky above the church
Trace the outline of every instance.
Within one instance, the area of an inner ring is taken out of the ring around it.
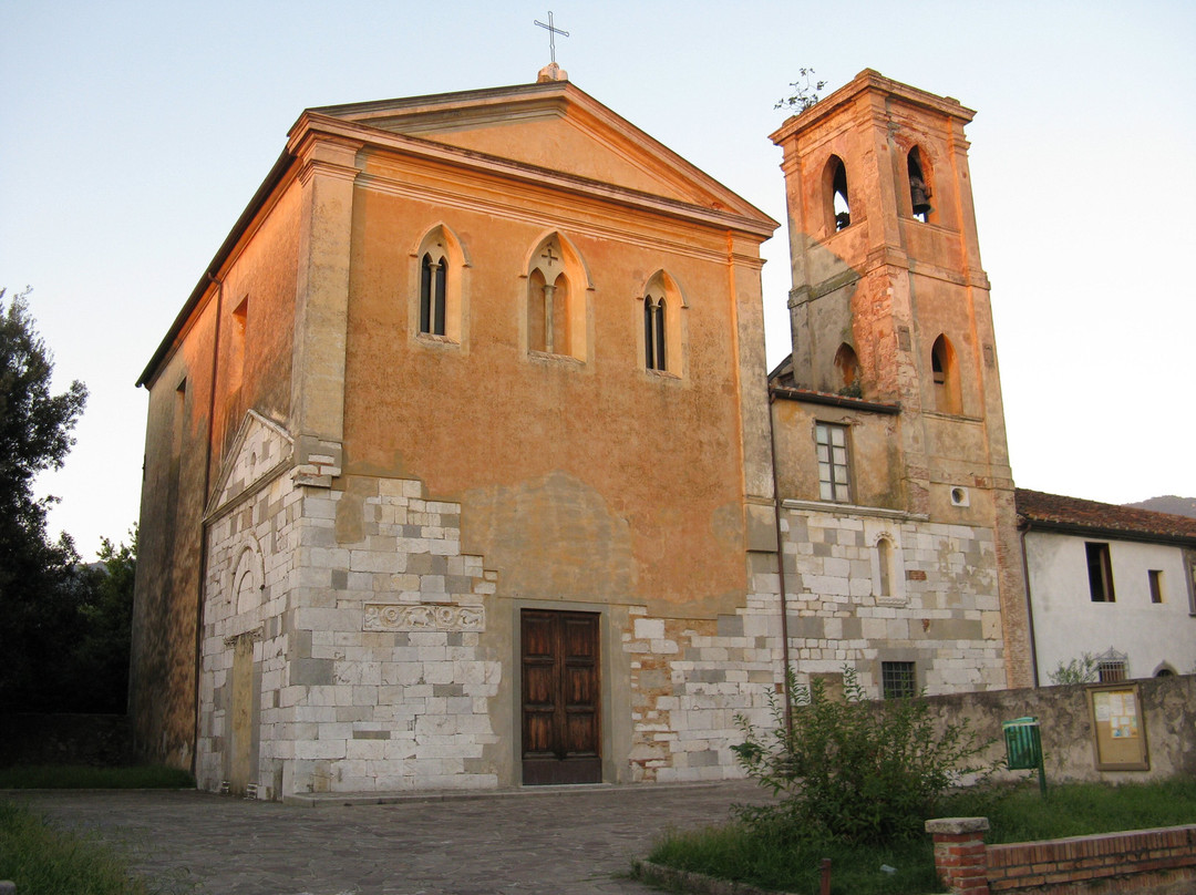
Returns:
[[[526,83],[547,6],[0,0],[0,286],[91,390],[51,529],[139,512],[133,383],[304,108]],[[785,220],[798,68],[959,98],[1018,485],[1196,495],[1196,4],[554,2],[582,90]],[[770,361],[787,238],[764,246]]]

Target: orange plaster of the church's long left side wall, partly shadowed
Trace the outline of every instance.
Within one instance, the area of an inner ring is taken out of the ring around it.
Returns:
[[[222,272],[224,296],[218,300],[218,287],[209,287],[150,384],[129,714],[141,754],[176,767],[190,767],[195,736],[205,486],[215,487],[222,451],[249,407],[281,420],[289,409],[298,209],[298,189],[292,188]],[[230,392],[232,311],[246,296],[242,386]],[[184,421],[176,453],[177,392],[184,379]],[[145,684],[140,689],[139,682]]]

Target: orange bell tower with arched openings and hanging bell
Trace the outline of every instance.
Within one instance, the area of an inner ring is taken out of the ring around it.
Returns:
[[[975,112],[866,69],[771,135],[783,150],[792,385],[895,408],[892,510],[991,528],[1009,686],[1030,650],[989,282]]]

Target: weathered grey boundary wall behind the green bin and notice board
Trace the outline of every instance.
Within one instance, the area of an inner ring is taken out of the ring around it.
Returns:
[[[984,759],[1005,756],[1002,722],[1024,716],[1038,718],[1049,783],[1141,783],[1196,775],[1196,676],[1149,677],[1133,683],[1142,702],[1149,771],[1097,771],[1088,710],[1091,686],[953,693],[928,696],[927,701],[940,724],[969,718],[981,739],[995,741]],[[1026,775],[1024,771],[1007,773]]]

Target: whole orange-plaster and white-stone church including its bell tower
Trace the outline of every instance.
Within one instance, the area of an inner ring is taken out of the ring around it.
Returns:
[[[1029,683],[971,116],[866,71],[773,134],[769,373],[777,223],[555,66],[305,111],[139,382],[144,754],[704,780],[786,663]]]

